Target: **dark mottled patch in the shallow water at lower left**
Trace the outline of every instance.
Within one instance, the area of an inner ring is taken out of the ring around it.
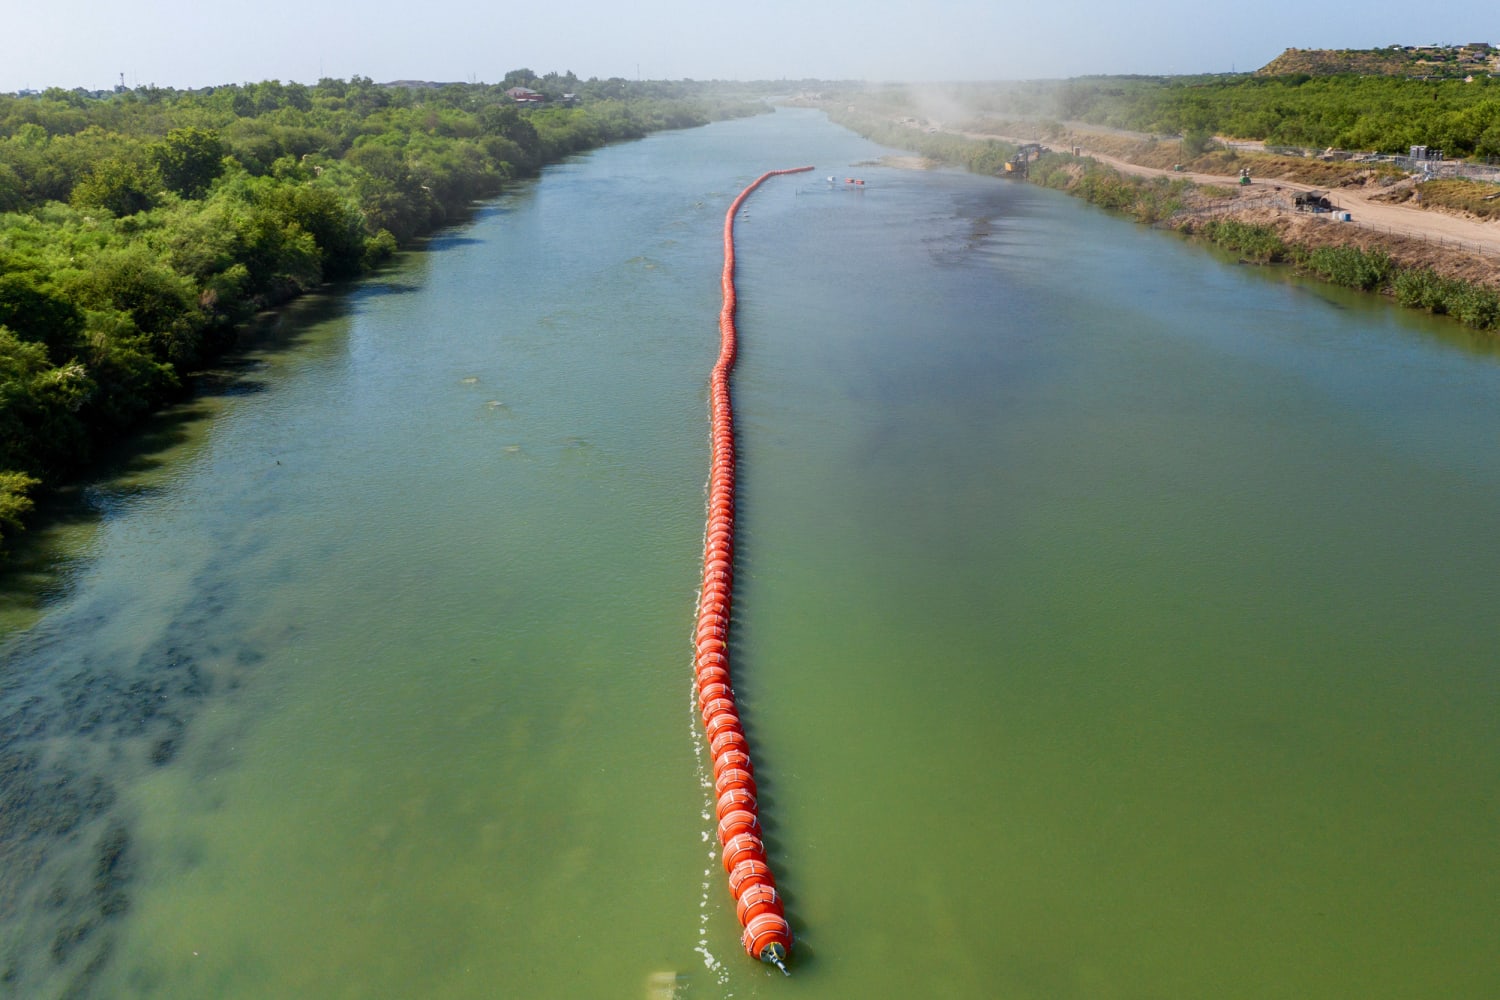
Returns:
[[[135,816],[122,789],[171,766],[212,697],[262,649],[213,558],[144,649],[78,643],[122,631],[135,595],[63,606],[0,646],[0,984],[6,996],[92,996],[130,909]],[[198,765],[201,766],[201,762]]]

